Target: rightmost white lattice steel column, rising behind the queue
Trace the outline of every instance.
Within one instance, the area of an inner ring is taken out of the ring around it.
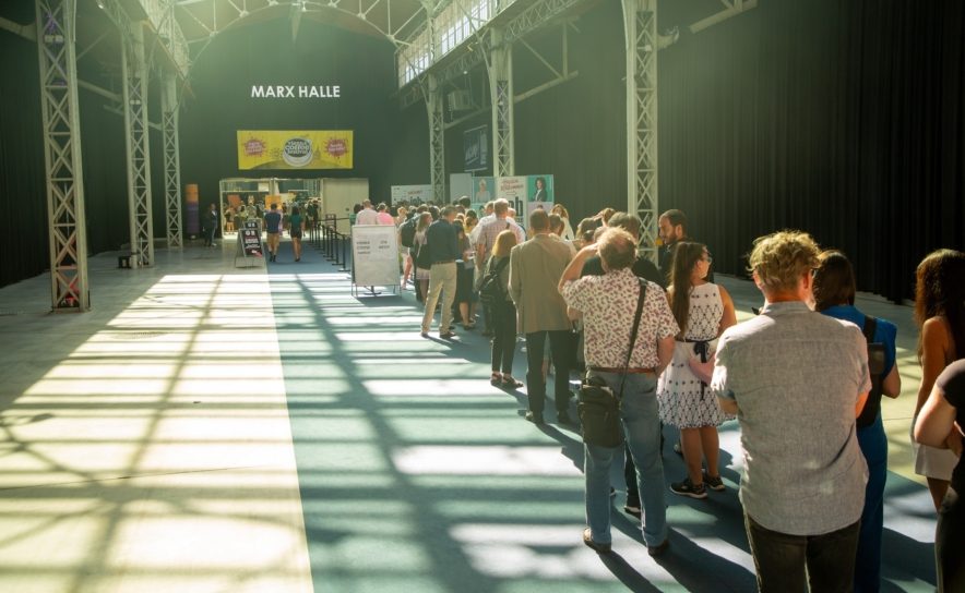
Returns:
[[[627,211],[643,221],[641,255],[657,261],[657,0],[622,0],[627,43]]]

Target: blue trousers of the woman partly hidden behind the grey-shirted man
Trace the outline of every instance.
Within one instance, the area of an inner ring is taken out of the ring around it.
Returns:
[[[868,462],[865,510],[855,561],[855,593],[877,593],[881,589],[881,531],[884,529],[884,482],[887,476],[887,436],[881,414],[870,426],[858,429],[858,445]]]

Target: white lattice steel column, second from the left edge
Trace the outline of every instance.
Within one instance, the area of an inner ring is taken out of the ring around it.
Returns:
[[[128,28],[128,31],[123,31]],[[128,136],[128,204],[131,217],[131,267],[154,264],[151,213],[151,152],[147,137],[147,62],[141,23],[122,27],[124,128]]]

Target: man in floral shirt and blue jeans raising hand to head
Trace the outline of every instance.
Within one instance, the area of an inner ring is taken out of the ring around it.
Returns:
[[[580,278],[583,265],[597,253],[605,274]],[[674,336],[680,328],[664,290],[654,282],[646,282],[640,328],[627,364],[641,290],[640,280],[631,269],[635,259],[635,238],[623,229],[609,229],[596,244],[576,253],[563,271],[559,290],[567,305],[583,314],[587,372],[603,378],[615,394],[622,395],[620,419],[636,465],[636,486],[643,503],[643,540],[650,555],[656,556],[670,543],[664,500],[657,377],[670,362]],[[607,554],[612,543],[610,465],[615,458],[619,459],[622,448],[596,445],[584,445],[584,448],[589,527],[583,531],[583,543]]]

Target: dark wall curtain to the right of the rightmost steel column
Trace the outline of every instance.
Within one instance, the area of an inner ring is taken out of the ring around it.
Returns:
[[[797,228],[901,301],[924,255],[963,247],[962,2],[762,2],[659,68],[660,209],[722,271]]]

